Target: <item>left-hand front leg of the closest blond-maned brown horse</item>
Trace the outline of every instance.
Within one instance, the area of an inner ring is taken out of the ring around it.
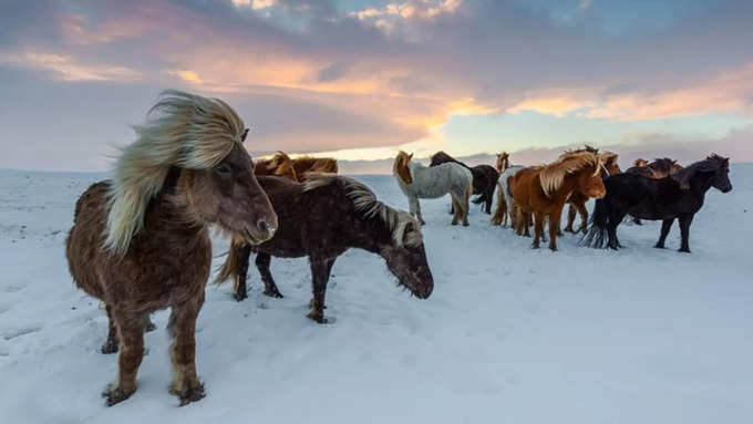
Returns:
[[[125,401],[136,391],[136,373],[144,359],[144,316],[111,309],[121,341],[117,356],[117,382],[110,384],[102,396],[112,406]]]

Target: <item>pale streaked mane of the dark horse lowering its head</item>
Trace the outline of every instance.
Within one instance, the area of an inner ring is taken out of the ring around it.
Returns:
[[[353,203],[355,211],[363,219],[379,219],[384,224],[398,246],[417,246],[423,241],[419,223],[406,211],[392,208],[380,201],[374,192],[365,184],[350,177],[329,173],[311,173],[308,176],[309,178],[303,183],[303,192],[339,185]],[[409,224],[413,224],[414,231],[405,239],[405,228]]]

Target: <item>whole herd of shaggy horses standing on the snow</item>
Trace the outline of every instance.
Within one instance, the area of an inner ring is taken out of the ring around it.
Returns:
[[[591,147],[564,153],[541,166],[509,164],[467,166],[444,152],[431,165],[400,152],[393,174],[410,214],[380,201],[364,184],[337,175],[332,158],[291,158],[278,152],[254,162],[244,147],[243,120],[219,99],[180,91],[163,92],[147,121],[134,127],[136,142],[117,158],[113,176],[90,186],[75,205],[65,256],[75,285],[102,300],[109,319],[103,353],[118,353],[117,379],[103,392],[113,405],[136,391],[149,314],[171,308],[173,382],[180,404],[205,396],[195,360],[196,319],[210,276],[209,227],[231,240],[217,282],[234,280],[237,300],[247,297],[250,254],[265,285],[264,293],[281,298],[270,272],[272,257],[308,257],[311,301],[308,318],[324,323],[327,285],[334,261],[350,248],[382,257],[399,286],[419,299],[432,294],[434,280],[422,236],[425,224],[419,199],[450,194],[453,225],[468,225],[470,201],[492,213],[495,225],[519,235],[534,226],[534,247],[546,238],[556,250],[559,221],[570,205],[567,231],[586,231],[584,242],[618,248],[616,228],[631,215],[662,219],[657,247],[678,218],[682,251],[689,251],[692,217],[705,192],[724,193],[729,159],[716,155],[685,168],[664,159],[620,172],[617,154]],[[587,229],[589,198],[597,198]],[[576,214],[581,216],[573,229]]]

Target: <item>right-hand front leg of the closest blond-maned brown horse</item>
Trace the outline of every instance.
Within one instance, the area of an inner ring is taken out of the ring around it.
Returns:
[[[188,301],[174,306],[167,323],[171,338],[173,382],[169,392],[180,400],[180,405],[204,397],[204,384],[196,373],[196,319],[204,303],[204,291]]]

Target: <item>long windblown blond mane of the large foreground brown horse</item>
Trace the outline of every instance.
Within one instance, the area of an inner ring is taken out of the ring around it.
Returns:
[[[146,207],[172,166],[212,168],[246,135],[243,120],[221,100],[177,90],[162,92],[147,121],[133,130],[136,142],[123,148],[109,193],[104,248],[120,255],[144,227]]]

